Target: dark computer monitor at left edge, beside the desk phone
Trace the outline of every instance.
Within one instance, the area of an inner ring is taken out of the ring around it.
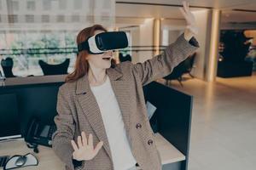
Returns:
[[[20,137],[16,94],[0,94],[0,140]]]

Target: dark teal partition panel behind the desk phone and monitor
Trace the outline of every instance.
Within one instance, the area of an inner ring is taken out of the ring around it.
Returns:
[[[54,123],[57,93],[62,83],[51,82],[0,87],[0,95],[16,95],[22,135],[26,131],[26,125],[31,116],[38,116],[42,122]]]

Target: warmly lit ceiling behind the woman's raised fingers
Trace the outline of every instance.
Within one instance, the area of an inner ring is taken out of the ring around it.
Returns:
[[[222,22],[252,22],[255,25],[256,0],[190,0],[188,2],[192,11],[204,8],[220,9]],[[181,6],[181,0],[117,0],[116,16],[183,20],[183,15],[178,9]]]

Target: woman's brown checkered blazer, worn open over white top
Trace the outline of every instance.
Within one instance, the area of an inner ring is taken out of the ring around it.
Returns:
[[[170,74],[176,65],[186,59],[189,54],[194,53],[199,45],[194,37],[191,40],[186,41],[182,34],[162,54],[152,59],[137,64],[128,61],[120,63],[115,68],[107,69],[123,116],[132,154],[143,170],[161,169],[160,155],[154,143],[154,133],[148,122],[143,86]],[[92,160],[82,161],[82,166],[78,169],[113,170],[108,137],[86,75],[77,82],[68,82],[61,86],[58,93],[57,112],[58,115],[55,116],[57,131],[52,137],[53,150],[65,163],[66,170],[75,169],[71,139],[76,141],[82,131],[86,135],[92,133],[95,146],[99,141],[103,141],[104,144]],[[137,128],[137,123],[142,127]]]

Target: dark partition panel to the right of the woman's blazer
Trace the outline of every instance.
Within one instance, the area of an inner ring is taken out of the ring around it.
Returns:
[[[159,82],[145,86],[144,95],[157,108],[150,120],[154,133],[160,133],[185,156],[185,160],[173,162],[169,167],[188,169],[192,96]]]

